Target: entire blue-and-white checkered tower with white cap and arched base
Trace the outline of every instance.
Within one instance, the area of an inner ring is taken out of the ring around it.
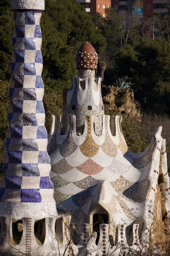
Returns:
[[[49,254],[55,252],[55,223],[51,221],[57,212],[42,103],[40,18],[44,0],[11,0],[11,9],[14,51],[0,183],[0,255],[55,255]]]

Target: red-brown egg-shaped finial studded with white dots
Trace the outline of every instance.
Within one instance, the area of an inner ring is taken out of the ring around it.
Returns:
[[[96,70],[97,69],[97,53],[94,47],[85,42],[80,46],[76,55],[77,70]]]

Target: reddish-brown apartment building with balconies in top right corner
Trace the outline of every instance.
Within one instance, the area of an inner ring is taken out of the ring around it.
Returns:
[[[143,0],[143,17],[149,19],[154,15],[166,16],[167,4],[170,4],[170,0]]]

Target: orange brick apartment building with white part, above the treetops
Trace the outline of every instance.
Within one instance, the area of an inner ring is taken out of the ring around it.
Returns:
[[[105,8],[111,8],[111,0],[77,0],[77,2],[84,6],[85,11],[91,15],[99,12],[105,17]]]

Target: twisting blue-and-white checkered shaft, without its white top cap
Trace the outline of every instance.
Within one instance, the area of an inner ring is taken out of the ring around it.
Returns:
[[[20,212],[22,217],[28,214],[27,203],[40,203],[40,206],[36,204],[36,209],[34,204],[30,205],[32,215],[38,208],[40,216],[44,215],[42,203],[54,204],[42,103],[44,84],[41,78],[41,13],[41,10],[14,11],[11,102],[3,154],[1,204],[6,202],[7,206],[13,202],[14,207],[16,202],[18,207],[23,203],[25,208]],[[15,218],[18,217],[15,216],[15,207],[12,212]],[[0,213],[8,215],[8,210],[3,207]]]

